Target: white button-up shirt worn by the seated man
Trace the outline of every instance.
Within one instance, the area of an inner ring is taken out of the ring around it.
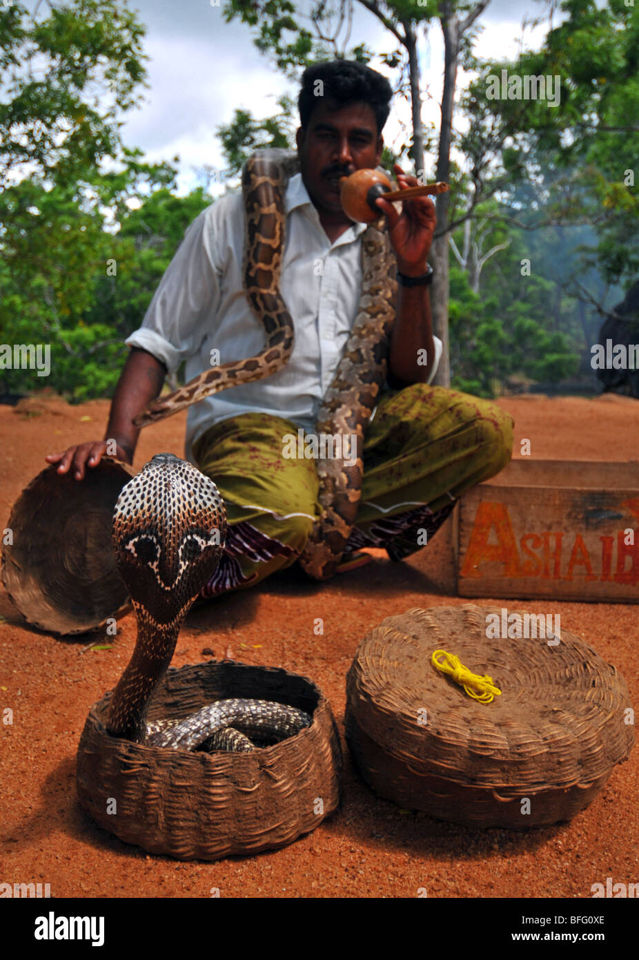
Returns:
[[[186,426],[186,456],[214,423],[249,412],[292,420],[312,432],[357,315],[362,286],[360,236],[353,224],[331,244],[301,174],[286,192],[286,242],[280,291],[295,325],[295,345],[283,370],[194,404]],[[185,379],[219,364],[244,360],[265,344],[262,325],[242,286],[244,204],[228,194],[202,210],[184,234],[154,294],[142,326],[126,341],[148,350],[169,372],[186,361]],[[437,371],[441,341],[429,382]],[[219,350],[219,360],[213,350]]]

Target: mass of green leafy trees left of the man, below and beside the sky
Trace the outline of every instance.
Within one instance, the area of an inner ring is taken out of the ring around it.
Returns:
[[[12,344],[51,349],[46,380],[0,371],[6,392],[111,394],[123,339],[209,203],[202,191],[175,197],[175,167],[121,143],[117,118],[144,83],[143,34],[116,0],[68,0],[40,19],[0,6],[0,327]]]

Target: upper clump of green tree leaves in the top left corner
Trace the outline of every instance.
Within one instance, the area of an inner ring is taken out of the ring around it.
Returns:
[[[144,28],[116,0],[0,5],[0,186],[29,172],[80,184],[116,156],[117,117],[140,101]],[[109,97],[105,98],[105,94]]]

